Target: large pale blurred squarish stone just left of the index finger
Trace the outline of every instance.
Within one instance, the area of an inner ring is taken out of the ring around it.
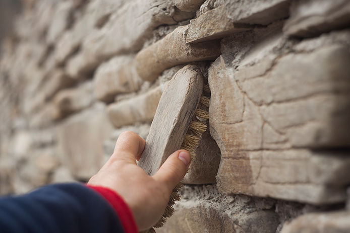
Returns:
[[[103,141],[111,128],[103,104],[95,104],[57,127],[63,165],[76,179],[89,179],[103,165]]]

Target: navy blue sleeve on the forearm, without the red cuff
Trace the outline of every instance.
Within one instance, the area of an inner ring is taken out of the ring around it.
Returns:
[[[124,232],[114,209],[81,184],[0,199],[0,232]]]

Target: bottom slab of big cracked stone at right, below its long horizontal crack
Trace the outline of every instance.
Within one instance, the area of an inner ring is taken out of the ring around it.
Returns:
[[[349,163],[346,153],[240,150],[222,154],[217,186],[225,194],[244,193],[311,204],[337,203],[345,200]]]

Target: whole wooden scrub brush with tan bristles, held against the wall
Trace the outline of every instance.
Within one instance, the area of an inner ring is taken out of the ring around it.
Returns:
[[[203,75],[196,65],[186,65],[168,82],[158,104],[148,134],[145,149],[138,166],[148,175],[154,175],[168,156],[186,149],[192,160],[209,119],[208,107],[210,90],[203,85]],[[166,209],[153,227],[161,227],[180,200],[182,184],[172,191]],[[143,232],[155,232],[153,228]]]

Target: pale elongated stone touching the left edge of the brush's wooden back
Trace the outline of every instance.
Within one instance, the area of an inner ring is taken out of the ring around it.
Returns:
[[[154,88],[137,97],[120,101],[108,106],[108,117],[115,128],[136,122],[151,122],[162,90]]]

